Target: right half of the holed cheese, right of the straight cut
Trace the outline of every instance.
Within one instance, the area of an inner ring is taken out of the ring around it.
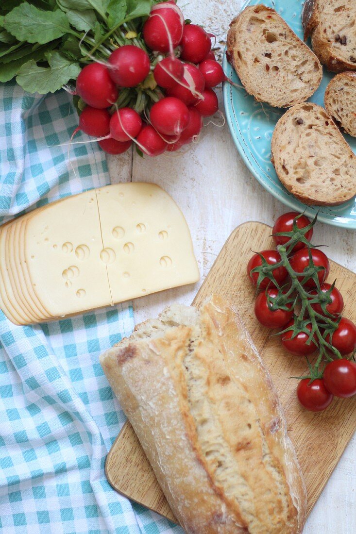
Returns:
[[[114,302],[199,279],[187,222],[164,190],[124,183],[96,192]]]

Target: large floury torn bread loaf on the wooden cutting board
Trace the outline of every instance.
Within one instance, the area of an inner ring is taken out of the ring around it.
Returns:
[[[295,451],[234,308],[173,305],[100,363],[187,534],[301,532]]]

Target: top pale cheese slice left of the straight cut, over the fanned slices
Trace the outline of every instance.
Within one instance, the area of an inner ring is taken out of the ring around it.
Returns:
[[[25,260],[52,317],[111,304],[95,191],[68,197],[29,218]]]

